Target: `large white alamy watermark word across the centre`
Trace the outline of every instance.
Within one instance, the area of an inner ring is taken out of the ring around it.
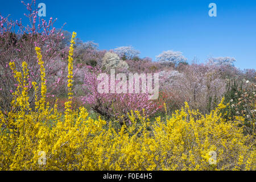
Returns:
[[[110,69],[110,78],[106,73],[100,73],[97,80],[100,83],[97,86],[98,93],[130,93],[148,94],[148,100],[156,100],[159,96],[159,73],[129,73],[128,80],[125,73],[115,75],[115,69]],[[152,80],[154,76],[154,83]],[[110,81],[110,84],[109,84]],[[154,86],[154,88],[153,88]]]

